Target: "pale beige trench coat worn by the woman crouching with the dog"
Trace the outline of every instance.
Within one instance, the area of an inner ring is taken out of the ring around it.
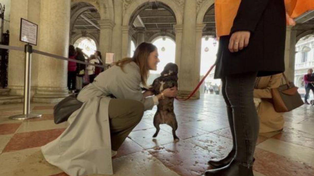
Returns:
[[[140,88],[139,67],[131,62],[113,66],[100,73],[78,95],[83,106],[69,117],[68,128],[54,141],[41,147],[45,159],[70,176],[112,175],[108,106],[116,98],[141,101],[152,109],[152,97],[144,98]],[[121,107],[123,108],[123,107]]]

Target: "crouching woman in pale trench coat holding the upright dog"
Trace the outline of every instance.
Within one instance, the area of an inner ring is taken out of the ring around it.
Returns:
[[[100,73],[78,94],[84,103],[69,117],[67,129],[41,147],[45,159],[70,176],[112,175],[111,157],[140,122],[143,111],[164,97],[176,96],[176,87],[156,96],[151,91],[142,93],[140,84],[146,85],[149,70],[157,70],[158,62],[156,46],[142,43],[133,58]]]

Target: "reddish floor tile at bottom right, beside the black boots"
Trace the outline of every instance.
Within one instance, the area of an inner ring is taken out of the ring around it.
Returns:
[[[256,148],[253,169],[265,176],[311,176],[314,166]],[[257,175],[255,175],[257,176]]]

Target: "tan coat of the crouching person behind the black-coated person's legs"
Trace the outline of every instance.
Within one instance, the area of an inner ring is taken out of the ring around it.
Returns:
[[[282,84],[282,74],[261,77],[254,89],[254,98],[261,98],[258,108],[260,118],[260,133],[281,130],[284,127],[283,113],[276,112],[271,103],[272,94],[270,89]]]

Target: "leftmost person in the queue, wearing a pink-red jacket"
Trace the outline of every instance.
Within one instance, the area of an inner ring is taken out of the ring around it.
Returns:
[[[75,59],[75,48],[73,45],[69,46],[69,58]],[[76,62],[68,61],[68,89],[70,92],[75,90],[76,80]]]

